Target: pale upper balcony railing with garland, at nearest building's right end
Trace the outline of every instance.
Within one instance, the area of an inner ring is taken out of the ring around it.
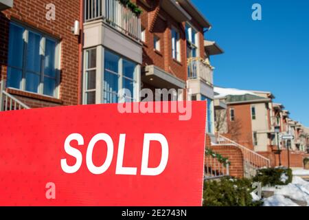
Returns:
[[[207,65],[203,58],[189,58],[187,60],[188,78],[201,78],[210,85],[214,84],[214,72],[210,65]]]

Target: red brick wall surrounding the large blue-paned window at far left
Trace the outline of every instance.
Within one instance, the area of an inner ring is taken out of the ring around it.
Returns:
[[[54,3],[56,21],[47,21],[45,6]],[[0,12],[0,78],[7,78],[8,38],[10,20],[15,19],[35,30],[45,32],[61,43],[60,99],[23,93],[23,100],[30,107],[49,107],[55,104],[78,104],[78,37],[71,33],[74,21],[80,19],[80,4],[76,0],[14,0],[14,7]],[[19,96],[21,97],[21,96]],[[42,102],[41,102],[42,101]],[[32,103],[33,102],[33,103]],[[34,104],[36,103],[36,104]]]

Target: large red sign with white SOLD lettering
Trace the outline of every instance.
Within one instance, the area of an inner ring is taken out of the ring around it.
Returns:
[[[117,104],[0,113],[0,206],[201,206],[206,104],[180,115]]]

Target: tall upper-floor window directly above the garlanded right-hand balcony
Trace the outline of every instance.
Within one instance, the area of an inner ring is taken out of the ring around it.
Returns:
[[[185,36],[187,39],[187,58],[198,56],[198,32],[189,24],[185,25]]]

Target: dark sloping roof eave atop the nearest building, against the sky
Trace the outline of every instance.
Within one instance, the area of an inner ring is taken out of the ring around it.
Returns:
[[[175,1],[175,0],[174,0]],[[203,14],[195,7],[190,0],[176,0],[181,7],[183,7],[192,18],[194,18],[203,28],[210,28],[211,24],[203,16]]]

